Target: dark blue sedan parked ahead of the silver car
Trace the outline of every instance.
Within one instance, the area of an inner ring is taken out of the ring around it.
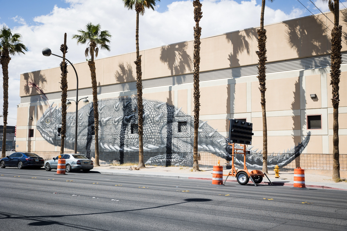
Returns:
[[[0,168],[16,166],[18,169],[23,167],[41,168],[43,165],[44,159],[30,152],[15,152],[0,160]]]

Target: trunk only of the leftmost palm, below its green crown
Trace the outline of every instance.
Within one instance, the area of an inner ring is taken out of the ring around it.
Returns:
[[[3,136],[2,136],[2,154],[1,158],[6,157],[6,127],[7,127],[7,114],[8,114],[8,64],[11,60],[9,51],[4,48],[0,57],[0,64],[2,66],[3,74]]]

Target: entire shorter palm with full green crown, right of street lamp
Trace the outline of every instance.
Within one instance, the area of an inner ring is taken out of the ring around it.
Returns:
[[[77,39],[77,44],[87,44],[87,48],[84,52],[85,56],[91,56],[91,60],[88,61],[91,77],[92,77],[92,88],[93,88],[93,106],[94,106],[94,132],[95,132],[95,165],[99,164],[99,112],[98,112],[98,93],[96,85],[96,74],[95,74],[95,57],[98,57],[99,47],[101,50],[111,51],[111,48],[107,43],[110,43],[112,37],[108,30],[101,30],[100,24],[93,25],[88,23],[85,26],[86,30],[79,29],[79,35],[73,35],[72,38]]]

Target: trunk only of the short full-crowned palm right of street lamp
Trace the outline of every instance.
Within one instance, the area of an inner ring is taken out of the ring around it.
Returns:
[[[98,111],[98,85],[96,83],[96,73],[95,73],[95,62],[94,62],[94,46],[91,49],[91,60],[88,61],[88,66],[90,69],[90,74],[92,77],[92,89],[93,89],[93,106],[94,106],[94,132],[95,132],[95,166],[100,166],[99,164],[99,111]]]

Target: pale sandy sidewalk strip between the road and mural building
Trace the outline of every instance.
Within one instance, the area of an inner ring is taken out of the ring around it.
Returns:
[[[180,178],[180,179],[196,179],[196,180],[210,180],[212,181],[212,170],[211,168],[201,168],[203,171],[191,172],[192,168],[189,167],[161,167],[161,166],[146,166],[145,169],[141,170],[131,170],[131,166],[112,166],[112,165],[102,165],[100,167],[94,167],[92,171],[98,171],[101,174],[110,174],[110,175],[127,175],[127,176],[148,176],[148,177],[166,177],[166,178]],[[228,174],[229,170],[223,169],[223,174]],[[294,174],[292,172],[286,172],[280,174],[280,178],[274,178],[274,173],[269,173],[268,177],[270,178],[273,185],[278,186],[290,186],[293,187],[293,178]],[[226,176],[223,177],[225,180]],[[292,179],[291,179],[292,178]],[[330,178],[330,179],[329,179]],[[323,182],[313,182],[307,181],[311,179],[319,179]],[[305,174],[306,187],[307,188],[322,188],[322,189],[339,189],[347,190],[346,182],[335,183],[331,180],[331,177],[328,176],[318,176],[315,174]],[[226,183],[237,182],[236,178],[228,177]],[[249,181],[250,183],[251,180]],[[268,185],[269,180],[264,177],[263,185]]]

